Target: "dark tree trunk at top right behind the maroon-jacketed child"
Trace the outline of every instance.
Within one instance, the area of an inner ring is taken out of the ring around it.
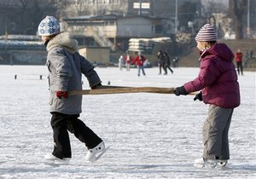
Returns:
[[[243,38],[243,17],[247,10],[246,0],[230,0],[230,15],[234,20],[236,39]]]

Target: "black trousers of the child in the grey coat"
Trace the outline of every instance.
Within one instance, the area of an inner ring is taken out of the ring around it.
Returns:
[[[59,159],[71,158],[71,146],[68,131],[73,133],[79,141],[82,141],[86,147],[96,147],[102,139],[90,130],[83,121],[79,119],[79,114],[68,115],[63,113],[51,113],[51,127],[53,129],[53,138],[55,142],[53,155]]]

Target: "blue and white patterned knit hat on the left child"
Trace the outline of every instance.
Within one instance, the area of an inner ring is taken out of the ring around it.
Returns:
[[[47,15],[38,26],[39,36],[51,36],[61,32],[60,22],[53,16]]]

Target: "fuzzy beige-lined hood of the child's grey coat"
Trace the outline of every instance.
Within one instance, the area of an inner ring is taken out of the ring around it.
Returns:
[[[47,44],[47,51],[55,47],[61,47],[67,49],[70,53],[74,54],[79,51],[79,43],[75,39],[71,38],[68,32],[62,32],[52,38]]]

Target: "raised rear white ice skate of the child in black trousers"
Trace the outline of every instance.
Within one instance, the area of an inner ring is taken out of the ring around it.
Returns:
[[[96,160],[102,157],[102,154],[108,150],[109,147],[105,147],[104,141],[98,144],[96,147],[88,150],[85,159],[90,161],[91,163],[96,162]]]

